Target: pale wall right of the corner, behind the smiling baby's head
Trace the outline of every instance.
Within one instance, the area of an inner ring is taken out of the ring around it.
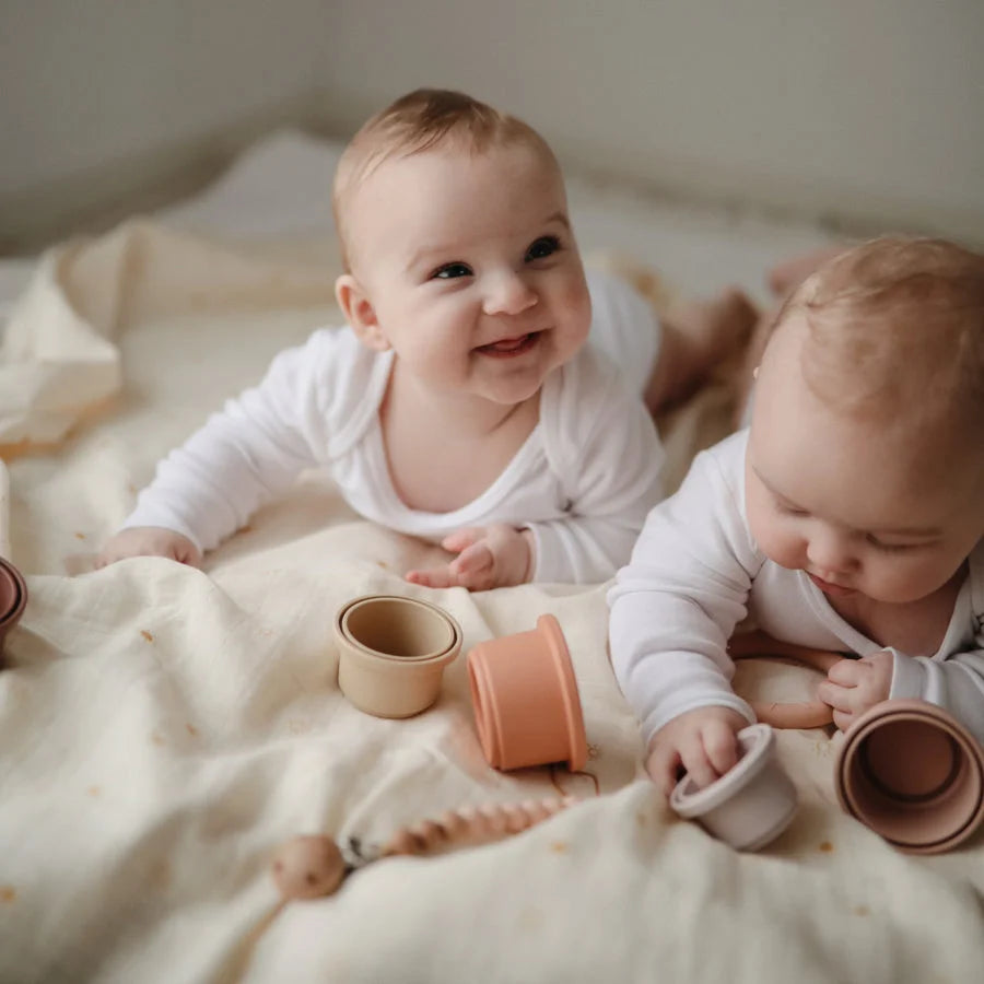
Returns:
[[[984,0],[336,0],[352,126],[457,85],[670,190],[984,242]]]

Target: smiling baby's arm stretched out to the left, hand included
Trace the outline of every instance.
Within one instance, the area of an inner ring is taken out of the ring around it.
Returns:
[[[318,464],[315,448],[327,442],[317,383],[325,333],[278,355],[259,386],[229,400],[160,462],[98,564],[142,554],[197,563]]]

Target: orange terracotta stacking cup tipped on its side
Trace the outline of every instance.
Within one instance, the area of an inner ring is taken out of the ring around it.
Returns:
[[[540,616],[536,629],[479,643],[468,654],[475,723],[494,769],[587,761],[577,682],[560,624]]]

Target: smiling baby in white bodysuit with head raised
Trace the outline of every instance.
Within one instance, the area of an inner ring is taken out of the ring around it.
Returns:
[[[197,564],[323,466],[362,516],[448,551],[411,582],[610,577],[660,497],[646,405],[726,354],[736,298],[660,326],[626,284],[586,277],[550,148],[460,93],[373,117],[333,204],[348,326],[281,353],[162,461],[99,563]]]

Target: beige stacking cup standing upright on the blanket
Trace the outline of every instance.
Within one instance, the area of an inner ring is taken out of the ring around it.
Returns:
[[[411,717],[437,700],[444,668],[461,649],[445,611],[398,595],[367,595],[336,616],[338,686],[366,714]]]

